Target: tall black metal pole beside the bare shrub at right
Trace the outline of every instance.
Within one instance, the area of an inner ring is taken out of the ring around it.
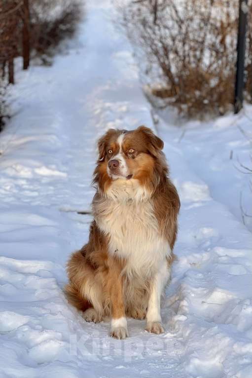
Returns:
[[[235,82],[235,103],[234,103],[235,114],[239,113],[243,107],[247,13],[248,13],[248,0],[239,0],[239,26],[238,26],[238,38],[237,38],[237,62],[236,62],[236,82]]]

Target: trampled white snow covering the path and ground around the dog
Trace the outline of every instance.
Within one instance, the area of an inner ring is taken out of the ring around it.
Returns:
[[[240,191],[247,212],[250,197],[234,167],[237,156],[249,164],[237,125],[251,132],[251,107],[181,127],[159,114],[182,202],[165,334],[130,319],[130,338],[111,339],[108,323],[85,323],[62,292],[65,263],[88,237],[90,215],[77,211],[90,209],[96,139],[109,127],[154,128],[112,10],[88,1],[68,54],[20,72],[10,91],[17,114],[0,134],[0,378],[251,378],[252,234]]]

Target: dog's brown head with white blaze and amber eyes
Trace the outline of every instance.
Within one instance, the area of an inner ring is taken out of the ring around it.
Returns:
[[[145,126],[133,131],[109,129],[98,141],[94,182],[104,192],[115,181],[117,187],[120,183],[125,187],[125,181],[131,180],[153,187],[160,181],[157,175],[167,174],[163,146],[163,141]]]

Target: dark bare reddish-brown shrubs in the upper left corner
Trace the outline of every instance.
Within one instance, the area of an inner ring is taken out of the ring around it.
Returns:
[[[30,51],[48,63],[56,46],[71,38],[82,17],[81,0],[3,0],[0,1],[0,131],[6,114],[5,92],[14,83],[14,58],[23,55],[23,68],[30,62]]]

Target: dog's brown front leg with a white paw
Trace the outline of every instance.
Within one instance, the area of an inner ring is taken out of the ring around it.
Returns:
[[[111,269],[110,280],[110,302],[111,302],[111,331],[110,336],[115,339],[125,339],[128,334],[125,306],[123,301],[123,285],[120,272]]]

